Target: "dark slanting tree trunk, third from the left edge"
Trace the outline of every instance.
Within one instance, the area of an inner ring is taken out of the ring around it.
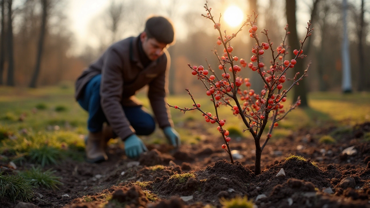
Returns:
[[[43,55],[43,46],[44,46],[44,40],[45,40],[48,0],[41,0],[41,2],[43,4],[43,16],[42,16],[42,24],[41,24],[41,31],[40,31],[40,39],[38,40],[36,67],[35,67],[35,71],[34,71],[34,74],[32,76],[32,80],[30,83],[31,88],[36,88],[37,78],[38,78],[38,75],[40,74],[41,58]]]

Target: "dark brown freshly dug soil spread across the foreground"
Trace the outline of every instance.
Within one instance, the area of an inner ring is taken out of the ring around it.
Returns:
[[[235,164],[228,162],[221,139],[215,142],[211,135],[178,150],[149,145],[149,152],[138,160],[126,158],[119,147],[109,147],[109,160],[101,164],[64,160],[46,167],[57,170],[64,185],[57,190],[35,189],[31,203],[53,208],[198,208],[221,207],[221,198],[240,195],[252,199],[258,208],[370,207],[370,142],[363,139],[369,131],[370,123],[363,123],[351,131],[302,129],[285,139],[271,140],[263,150],[259,175],[253,172],[251,139],[230,143],[232,150],[244,156],[234,159]],[[320,135],[335,132],[339,132],[335,144],[319,143]],[[354,154],[342,153],[351,146]],[[286,160],[290,154],[307,160]],[[6,164],[0,165],[14,174]],[[285,176],[276,176],[281,169]],[[16,204],[4,198],[0,207]]]

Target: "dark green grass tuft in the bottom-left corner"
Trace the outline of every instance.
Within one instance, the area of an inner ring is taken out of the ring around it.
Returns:
[[[11,201],[31,201],[33,186],[20,175],[3,175],[0,172],[0,198],[8,197]]]

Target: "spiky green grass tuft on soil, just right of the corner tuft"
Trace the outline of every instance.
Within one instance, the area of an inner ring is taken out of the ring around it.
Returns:
[[[61,177],[54,176],[54,172],[52,169],[42,171],[40,167],[33,166],[30,170],[20,172],[20,175],[35,187],[59,189],[58,185],[63,185],[63,183],[60,182]]]

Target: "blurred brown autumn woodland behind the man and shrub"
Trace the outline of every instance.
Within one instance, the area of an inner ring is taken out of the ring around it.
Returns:
[[[58,84],[64,80],[74,81],[110,44],[128,36],[137,36],[144,29],[145,19],[149,14],[161,14],[172,19],[175,27],[183,29],[181,34],[177,34],[180,38],[176,44],[168,49],[172,60],[170,92],[185,93],[184,88],[187,87],[203,90],[201,82],[192,76],[187,64],[206,66],[207,58],[216,73],[221,74],[211,50],[219,50],[222,55],[223,48],[216,45],[218,34],[213,30],[213,23],[200,16],[204,13],[203,8],[194,7],[195,3],[199,5],[198,2],[112,0],[102,13],[95,16],[90,25],[90,36],[96,44],[87,44],[81,53],[74,54],[71,53],[75,44],[74,34],[70,30],[71,20],[65,14],[66,0],[0,0],[0,84],[37,87]],[[193,6],[184,9],[184,4]],[[370,43],[366,36],[369,33],[370,3],[349,0],[348,4],[353,90],[369,91],[370,80],[366,77],[370,77]],[[210,0],[209,5],[214,7],[213,15],[218,19],[219,13],[228,7],[229,1]],[[290,23],[289,30],[295,30],[294,22],[302,18],[296,11],[305,11],[308,14],[306,21],[312,19],[314,31],[303,48],[308,58],[302,66],[297,65],[293,69],[303,71],[309,60],[312,60],[312,65],[309,77],[300,87],[308,91],[340,90],[342,0],[245,0],[239,6],[245,13],[251,14],[254,9],[259,14],[258,27],[260,30],[268,29],[275,48],[282,40],[286,23]],[[296,20],[293,20],[294,14]],[[304,38],[305,26],[297,23],[297,40]],[[228,34],[238,30],[227,26],[222,18],[221,27]],[[262,34],[259,37],[266,41]],[[289,52],[293,54],[292,51],[299,42],[293,40],[292,36],[289,38],[289,45],[292,46]],[[235,46],[233,53],[239,59],[244,58],[249,62],[252,56],[250,49],[254,42],[249,38],[248,31],[242,31],[231,44]],[[266,53],[265,63],[270,60],[269,54]],[[243,77],[251,78],[252,87],[261,90],[262,82],[256,75],[249,68],[242,70]]]

